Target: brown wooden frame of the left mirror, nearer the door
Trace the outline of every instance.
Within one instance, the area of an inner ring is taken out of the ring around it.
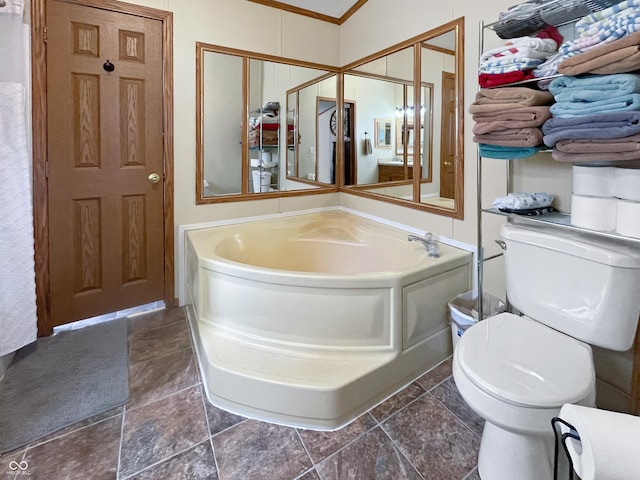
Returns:
[[[262,60],[267,62],[280,63],[284,65],[291,65],[296,67],[312,68],[324,71],[318,75],[313,81],[321,81],[336,75],[336,95],[339,95],[340,88],[340,69],[329,65],[322,65],[312,62],[305,62],[292,58],[278,57],[274,55],[261,54],[256,52],[250,52],[247,50],[240,50],[236,48],[223,47],[219,45],[213,45],[210,43],[196,42],[196,205],[223,203],[223,202],[235,202],[246,200],[257,200],[263,198],[277,198],[277,197],[292,197],[302,195],[313,195],[318,193],[330,193],[339,191],[338,185],[330,185],[320,182],[301,182],[312,183],[317,188],[300,189],[300,190],[278,190],[273,192],[249,192],[247,186],[249,185],[250,165],[249,165],[249,151],[246,142],[242,145],[242,192],[233,194],[223,194],[216,196],[204,195],[204,57],[206,52],[222,53],[227,55],[234,55],[240,57],[245,65],[245,75],[242,78],[242,91],[243,91],[243,113],[242,113],[242,138],[247,137],[248,118],[249,118],[249,78],[247,75],[248,69],[246,65],[250,60]],[[326,72],[326,73],[325,73]],[[309,82],[312,83],[312,82]],[[315,132],[314,132],[315,135]],[[296,179],[297,180],[297,179]]]

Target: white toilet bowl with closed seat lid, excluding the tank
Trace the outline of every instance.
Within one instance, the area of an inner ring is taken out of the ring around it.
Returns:
[[[453,375],[461,396],[485,419],[483,480],[553,478],[551,419],[565,403],[595,405],[591,347],[511,313],[465,332]],[[518,475],[505,476],[513,471]]]

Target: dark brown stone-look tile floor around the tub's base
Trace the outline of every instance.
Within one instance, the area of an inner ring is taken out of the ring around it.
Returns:
[[[482,420],[450,359],[345,428],[317,432],[210,405],[183,309],[131,318],[129,341],[129,402],[1,456],[0,479],[480,478]]]

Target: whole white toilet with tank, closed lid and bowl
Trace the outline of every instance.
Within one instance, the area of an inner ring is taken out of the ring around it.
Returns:
[[[551,419],[595,406],[591,345],[631,348],[640,314],[640,248],[611,237],[506,224],[507,297],[471,326],[453,357],[460,395],[485,419],[482,480],[552,480]],[[563,477],[564,478],[564,477]]]

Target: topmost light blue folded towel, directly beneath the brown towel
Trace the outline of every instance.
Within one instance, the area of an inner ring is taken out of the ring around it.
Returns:
[[[549,91],[556,102],[594,102],[603,95],[620,97],[640,93],[640,74],[584,75],[554,78]]]

